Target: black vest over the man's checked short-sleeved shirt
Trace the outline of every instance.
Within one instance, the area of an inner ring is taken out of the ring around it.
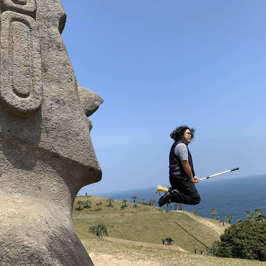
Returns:
[[[183,143],[183,142],[181,142],[180,140],[174,142],[174,144],[172,145],[172,147],[170,149],[170,154],[169,154],[169,175],[170,176],[179,175],[179,176],[189,177],[185,173],[185,171],[183,169],[183,166],[182,166],[180,158],[174,153],[174,149],[175,149],[175,147],[176,147],[176,145],[178,143]],[[188,146],[187,146],[187,149],[188,149]],[[191,156],[191,153],[190,153],[189,149],[188,149],[188,163],[189,163],[189,166],[191,168],[192,175],[194,177],[195,173],[194,173],[194,168],[193,168],[193,161],[192,161],[192,156]]]

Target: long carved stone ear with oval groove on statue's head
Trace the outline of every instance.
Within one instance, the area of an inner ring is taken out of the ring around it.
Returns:
[[[39,30],[33,18],[1,15],[0,99],[11,111],[30,114],[42,103]]]

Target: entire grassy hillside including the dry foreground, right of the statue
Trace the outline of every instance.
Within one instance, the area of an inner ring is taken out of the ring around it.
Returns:
[[[80,211],[78,211],[78,209],[75,210],[75,208],[78,208],[78,205],[76,205],[77,201],[84,201],[86,199],[92,201],[90,208],[86,209],[81,206]],[[102,206],[97,210],[95,204],[99,202],[102,202]],[[148,213],[136,215],[135,210],[132,209],[133,203],[127,202],[127,209],[125,210],[125,213],[132,212],[134,213],[133,215],[115,217],[101,216],[101,214],[122,214],[122,211],[120,210],[122,202],[115,201],[112,204],[113,207],[110,208],[108,207],[107,198],[95,196],[77,196],[74,203],[73,215],[75,216],[84,214],[98,214],[98,216],[94,218],[73,219],[73,224],[77,234],[90,256],[95,259],[95,265],[98,265],[97,260],[99,260],[99,265],[124,265],[119,264],[118,261],[120,261],[120,259],[124,259],[123,261],[128,261],[130,258],[132,264],[127,265],[140,265],[139,259],[141,259],[145,262],[144,264],[141,263],[141,265],[171,264],[173,266],[266,266],[266,263],[259,261],[224,259],[204,256],[204,254],[206,254],[206,248],[197,242],[197,240],[192,238],[189,234],[187,234],[184,230],[182,230],[179,226],[177,226],[175,222],[181,225],[185,230],[190,232],[190,234],[199,239],[206,246],[209,246],[214,240],[218,240],[219,236],[214,230],[195,221],[184,213],[161,213],[160,209],[157,207],[138,204],[140,207],[138,211],[148,212],[158,210],[158,212],[153,214]],[[205,223],[209,223],[211,226],[216,227],[221,232],[223,232],[226,227],[230,226],[227,224],[222,226],[219,221],[215,221],[213,219],[200,217],[194,214],[193,216],[201,221],[204,221]],[[110,242],[108,238],[102,239],[88,233],[88,227],[95,222],[104,223],[108,228],[109,236],[111,238],[121,239],[119,240],[119,243]],[[166,248],[167,245],[163,246],[161,239],[165,238],[166,236],[174,239],[174,242],[172,242],[171,246],[179,246],[191,253],[169,250]],[[128,244],[128,240],[136,241],[138,242],[138,245]],[[147,245],[142,245],[143,242],[153,244],[148,247]],[[156,244],[159,244],[160,248],[157,248],[158,246]],[[197,252],[199,254],[199,251],[203,250],[203,255],[194,255],[194,248],[197,248]],[[105,257],[107,264],[102,262],[101,258],[103,257]],[[116,260],[111,261],[111,259]],[[134,262],[134,259],[138,259],[138,261]]]

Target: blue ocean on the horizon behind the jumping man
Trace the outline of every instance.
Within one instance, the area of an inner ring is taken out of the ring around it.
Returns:
[[[168,182],[167,182],[168,181]],[[161,185],[161,184],[157,184]],[[132,196],[137,196],[138,201],[142,198],[159,200],[159,193],[155,193],[157,185],[152,188],[140,188],[121,192],[103,193],[99,197],[113,198],[115,200],[127,199],[133,202]],[[164,186],[170,186],[169,180],[165,180]],[[201,196],[198,205],[185,205],[183,209],[188,211],[196,210],[200,216],[213,218],[210,210],[215,208],[217,216],[221,219],[231,214],[236,223],[238,219],[247,219],[244,215],[246,210],[254,213],[257,207],[264,210],[266,214],[266,175],[247,177],[213,177],[199,182],[197,190]],[[164,210],[166,205],[164,205]],[[174,210],[174,203],[169,204],[169,210]]]

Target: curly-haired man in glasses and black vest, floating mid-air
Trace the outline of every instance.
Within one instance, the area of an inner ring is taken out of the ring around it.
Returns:
[[[194,128],[185,125],[177,127],[170,134],[174,144],[169,154],[169,180],[172,188],[178,192],[166,192],[158,201],[160,207],[169,202],[188,205],[200,203],[201,198],[195,186],[199,179],[195,176],[188,149],[188,144],[194,139],[194,132]]]

